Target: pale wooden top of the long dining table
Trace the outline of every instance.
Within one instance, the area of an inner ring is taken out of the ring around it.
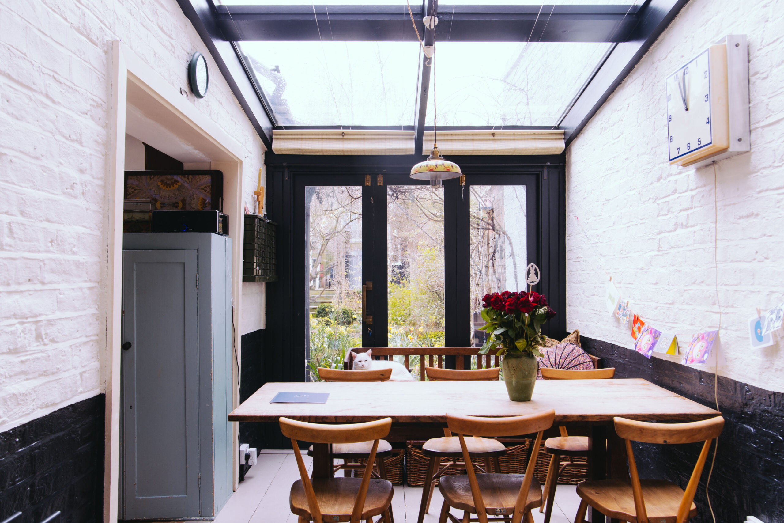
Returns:
[[[324,404],[275,404],[278,392],[328,392]],[[391,417],[397,423],[445,423],[445,414],[520,416],[555,409],[557,422],[706,419],[720,412],[647,380],[539,380],[531,401],[510,401],[502,381],[267,383],[234,412],[230,421],[357,423]]]

